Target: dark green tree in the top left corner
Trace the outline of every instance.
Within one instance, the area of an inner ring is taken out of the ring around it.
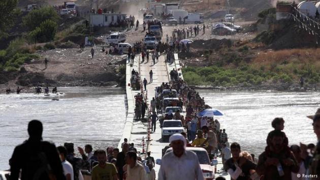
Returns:
[[[16,9],[17,4],[18,0],[0,1],[0,39],[8,34],[7,31],[13,26],[20,12]]]

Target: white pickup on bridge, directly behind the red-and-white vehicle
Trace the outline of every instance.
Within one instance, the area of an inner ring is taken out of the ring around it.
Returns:
[[[184,132],[184,127],[181,120],[164,120],[163,126],[161,128],[161,139],[165,139],[175,133]]]

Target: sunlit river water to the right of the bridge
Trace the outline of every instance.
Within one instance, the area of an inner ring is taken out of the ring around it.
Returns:
[[[242,150],[259,155],[266,146],[271,121],[282,117],[289,144],[316,143],[312,129],[313,115],[320,104],[317,92],[212,92],[199,90],[208,105],[222,111],[218,118],[230,142],[238,142]]]

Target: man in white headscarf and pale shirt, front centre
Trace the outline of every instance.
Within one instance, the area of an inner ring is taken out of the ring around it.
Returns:
[[[173,134],[169,142],[172,151],[162,157],[158,180],[204,180],[198,156],[185,149],[185,137],[181,134]]]

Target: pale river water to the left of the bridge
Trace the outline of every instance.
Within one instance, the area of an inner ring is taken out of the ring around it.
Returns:
[[[65,92],[59,101],[37,94],[0,94],[0,170],[16,145],[27,139],[27,124],[43,122],[44,140],[56,146],[90,143],[94,149],[117,146],[124,127],[125,90],[118,88],[58,88]]]

